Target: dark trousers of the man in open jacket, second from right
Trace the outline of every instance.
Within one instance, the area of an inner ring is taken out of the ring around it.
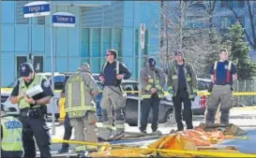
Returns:
[[[184,111],[182,117],[182,103],[184,104]],[[192,124],[192,109],[191,100],[189,99],[188,92],[186,90],[179,90],[176,96],[173,96],[174,115],[177,122],[178,131],[184,130],[183,120],[187,124],[187,129],[193,129]]]

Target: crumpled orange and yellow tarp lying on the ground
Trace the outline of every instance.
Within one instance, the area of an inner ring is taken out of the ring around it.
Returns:
[[[216,144],[219,141],[225,139],[225,136],[221,131],[204,132],[200,127],[197,130],[187,130],[183,132],[177,132],[168,136],[162,136],[158,141],[149,144],[146,149],[158,149],[158,150],[178,150],[178,151],[205,151],[205,149],[198,149],[197,146],[210,146]],[[156,154],[156,151],[146,149],[121,149],[112,151],[101,151],[91,153],[92,157],[147,157],[149,155]],[[102,150],[102,149],[101,149]],[[210,151],[218,151],[216,149],[208,148]],[[225,151],[222,149],[221,151]],[[235,148],[228,149],[227,151],[235,151]],[[188,156],[193,157],[192,154],[177,154],[172,152],[157,151],[161,156]]]

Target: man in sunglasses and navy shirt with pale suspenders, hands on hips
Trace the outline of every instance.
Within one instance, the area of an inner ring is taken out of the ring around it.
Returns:
[[[122,79],[129,79],[131,73],[128,68],[116,61],[117,51],[107,50],[107,62],[103,65],[99,80],[103,83],[103,93],[100,102],[102,108],[103,128],[98,132],[102,139],[118,139],[125,131],[123,108],[126,102],[126,93],[120,86]],[[113,113],[115,113],[116,134],[113,134]]]

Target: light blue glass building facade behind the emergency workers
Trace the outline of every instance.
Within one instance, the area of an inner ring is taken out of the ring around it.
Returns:
[[[30,1],[31,2],[31,1]],[[58,1],[53,2],[54,12],[70,12],[76,16],[76,27],[53,28],[53,58],[56,72],[73,72],[82,62],[91,65],[98,73],[105,62],[107,49],[118,50],[121,60],[138,76],[140,23],[145,23],[145,48],[142,56],[156,56],[159,46],[158,1]],[[23,6],[28,1],[2,1],[2,83],[3,86],[19,78],[19,65],[31,62],[40,72],[51,69],[50,17],[23,18]],[[177,3],[177,2],[170,2]],[[253,11],[256,10],[255,2]],[[241,22],[249,28],[246,5],[238,2],[233,7],[239,11]],[[235,22],[231,12],[218,2],[216,27],[225,32]],[[189,27],[204,27],[188,17]],[[255,18],[255,17],[254,17]],[[160,62],[159,62],[160,63]]]

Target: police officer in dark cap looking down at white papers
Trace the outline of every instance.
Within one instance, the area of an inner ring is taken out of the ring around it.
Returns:
[[[19,104],[21,110],[20,121],[23,123],[23,148],[25,158],[36,157],[36,138],[40,155],[43,158],[52,157],[50,151],[50,134],[46,125],[46,104],[50,103],[53,91],[50,82],[41,75],[35,74],[31,64],[24,63],[20,68],[21,77],[11,93],[11,103]],[[25,93],[35,86],[40,86],[42,92],[33,96]]]

